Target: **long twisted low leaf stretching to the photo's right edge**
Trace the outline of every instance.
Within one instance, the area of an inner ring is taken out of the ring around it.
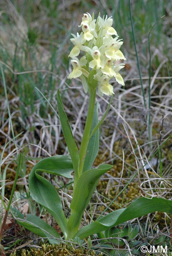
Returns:
[[[141,197],[132,202],[129,207],[122,208],[101,217],[99,220],[81,228],[75,236],[81,239],[92,234],[107,230],[110,227],[129,221],[130,219],[138,218],[154,211],[167,212],[172,214],[172,200],[153,197]]]

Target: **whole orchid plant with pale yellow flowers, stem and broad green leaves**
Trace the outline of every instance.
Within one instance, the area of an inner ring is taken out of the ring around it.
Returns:
[[[71,58],[72,72],[68,78],[79,78],[85,93],[89,94],[89,108],[83,137],[78,150],[72,128],[63,108],[60,91],[57,92],[58,114],[62,125],[63,135],[69,150],[69,155],[58,155],[40,160],[29,175],[29,189],[31,197],[42,205],[54,217],[63,233],[64,239],[86,238],[92,234],[128,221],[132,218],[146,215],[153,211],[172,213],[172,202],[164,198],[138,198],[127,208],[113,211],[101,216],[96,221],[81,227],[83,213],[91,200],[98,181],[112,165],[101,164],[98,168],[92,165],[99,150],[99,127],[109,111],[114,95],[110,80],[114,79],[124,85],[119,71],[124,67],[121,60],[125,60],[120,50],[123,42],[119,39],[116,30],[112,27],[112,18],[98,16],[94,19],[89,13],[82,17],[82,32],[72,34],[71,42],[74,45],[69,57]],[[98,121],[98,95],[112,96],[109,106]],[[72,173],[74,172],[74,176]],[[70,204],[71,214],[65,217],[62,202],[56,188],[42,175],[54,174],[73,179],[73,194]],[[145,207],[146,206],[146,207]],[[37,216],[27,214],[17,216],[18,223],[41,237],[47,237],[51,243],[59,243],[60,234],[49,224]]]

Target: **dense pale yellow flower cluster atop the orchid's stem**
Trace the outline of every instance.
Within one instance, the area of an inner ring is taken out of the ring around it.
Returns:
[[[80,78],[85,93],[88,91],[87,78],[92,69],[96,70],[94,79],[98,81],[98,94],[100,96],[112,95],[113,87],[109,80],[115,78],[118,83],[124,85],[122,76],[119,71],[124,64],[119,60],[125,60],[123,53],[119,50],[123,42],[118,39],[119,36],[114,28],[112,28],[113,19],[111,17],[94,19],[89,13],[84,13],[82,22],[79,27],[82,32],[77,35],[72,34],[72,48],[69,57],[72,58],[72,72],[67,78]],[[80,59],[77,57],[84,52],[84,56]]]

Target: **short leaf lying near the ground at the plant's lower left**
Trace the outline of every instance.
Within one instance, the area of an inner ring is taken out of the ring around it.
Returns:
[[[39,217],[27,214],[26,219],[17,218],[16,221],[34,234],[40,237],[47,237],[50,243],[60,244],[58,241],[58,239],[61,239],[60,234]]]

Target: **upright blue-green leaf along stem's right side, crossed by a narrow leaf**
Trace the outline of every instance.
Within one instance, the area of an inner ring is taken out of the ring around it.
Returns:
[[[94,108],[94,116],[91,126],[91,133],[93,128],[98,124],[98,103],[96,104]],[[83,166],[83,172],[91,169],[92,164],[94,163],[94,160],[98,154],[99,150],[99,130],[97,130],[91,139],[89,139],[89,144],[87,146],[87,154],[85,156],[84,166]]]

